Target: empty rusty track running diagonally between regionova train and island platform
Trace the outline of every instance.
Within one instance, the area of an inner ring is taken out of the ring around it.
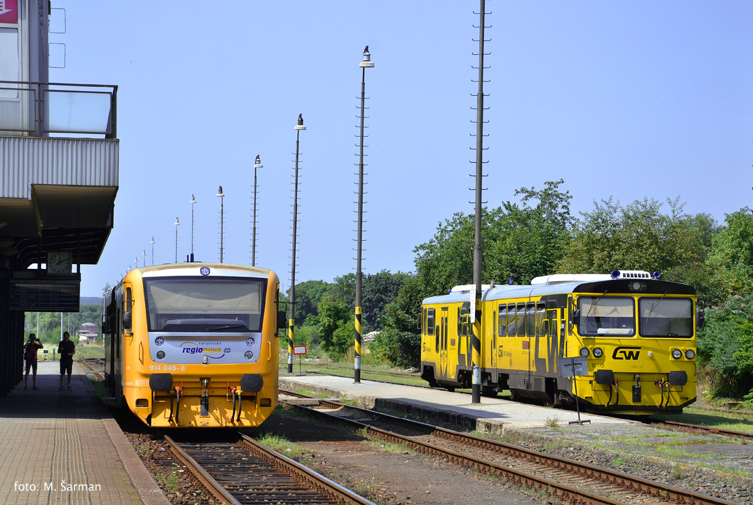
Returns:
[[[370,437],[404,443],[417,452],[483,470],[529,488],[548,491],[566,503],[688,503],[730,505],[729,500],[672,488],[590,464],[461,434],[429,424],[395,418],[331,400],[280,391],[280,402],[326,416],[330,421],[365,427]],[[286,399],[285,397],[288,397]],[[295,400],[296,397],[306,400]],[[300,405],[303,402],[306,405]]]

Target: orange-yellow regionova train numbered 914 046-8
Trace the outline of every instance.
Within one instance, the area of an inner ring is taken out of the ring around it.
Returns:
[[[227,263],[133,269],[105,313],[105,379],[154,427],[253,427],[277,405],[275,272]]]

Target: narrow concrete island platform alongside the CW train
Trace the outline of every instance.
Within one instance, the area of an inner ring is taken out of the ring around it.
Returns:
[[[458,424],[468,430],[501,434],[508,428],[544,427],[553,421],[569,424],[578,421],[578,412],[547,409],[499,398],[481,397],[481,403],[471,403],[470,394],[450,393],[444,389],[417,388],[361,379],[336,376],[280,376],[279,387],[291,391],[312,391],[319,397],[355,400],[366,408],[407,412],[428,421]],[[590,424],[630,424],[631,421],[583,414],[581,421]]]

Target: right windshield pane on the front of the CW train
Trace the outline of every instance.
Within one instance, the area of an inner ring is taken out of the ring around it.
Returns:
[[[693,302],[689,298],[638,300],[641,336],[693,336]]]

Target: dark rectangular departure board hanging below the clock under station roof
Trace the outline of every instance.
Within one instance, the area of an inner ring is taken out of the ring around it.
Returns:
[[[78,281],[11,279],[11,310],[24,312],[78,312]]]

